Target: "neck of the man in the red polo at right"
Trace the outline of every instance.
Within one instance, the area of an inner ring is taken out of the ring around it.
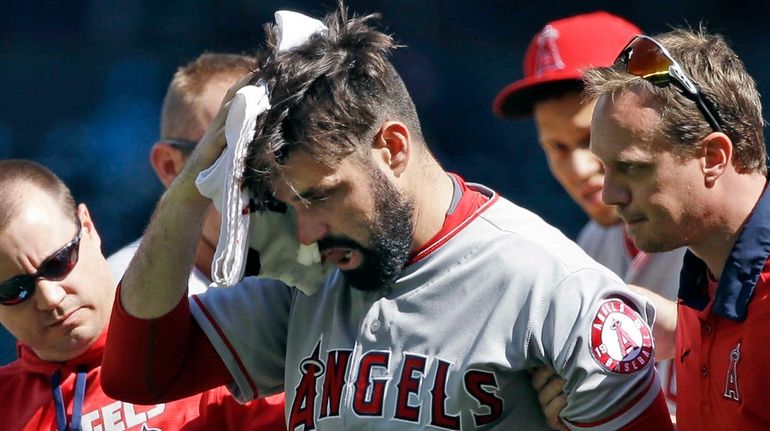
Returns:
[[[734,174],[715,185],[716,201],[704,222],[704,235],[689,245],[719,279],[727,258],[738,240],[743,225],[765,189],[766,178],[760,174]]]

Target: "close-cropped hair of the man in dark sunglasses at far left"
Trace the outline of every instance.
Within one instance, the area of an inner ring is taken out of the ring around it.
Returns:
[[[45,166],[30,160],[0,160],[0,230],[19,214],[23,196],[16,187],[30,184],[48,193],[62,210],[75,221],[77,208],[70,189]]]

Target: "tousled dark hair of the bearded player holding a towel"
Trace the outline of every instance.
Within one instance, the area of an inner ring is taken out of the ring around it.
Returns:
[[[246,182],[257,194],[266,192],[294,151],[327,166],[354,152],[368,153],[385,121],[403,122],[424,147],[414,103],[389,60],[397,45],[370,25],[376,18],[349,17],[340,4],[324,18],[328,30],[282,52],[276,51],[275,26],[267,27],[255,82],[267,84],[272,108],[257,120],[246,169]]]

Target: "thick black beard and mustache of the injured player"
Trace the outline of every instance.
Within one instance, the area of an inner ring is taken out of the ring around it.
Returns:
[[[372,167],[370,182],[375,205],[374,221],[369,227],[370,247],[343,238],[329,238],[329,244],[321,240],[318,245],[321,249],[332,244],[347,246],[361,252],[364,257],[361,265],[342,271],[345,280],[361,291],[386,291],[396,281],[411,254],[414,204],[376,167]]]

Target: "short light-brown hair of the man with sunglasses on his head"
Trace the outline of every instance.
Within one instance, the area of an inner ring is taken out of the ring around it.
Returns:
[[[675,29],[653,37],[665,46],[704,97],[715,107],[717,121],[733,142],[733,166],[738,172],[767,174],[762,104],[754,79],[738,55],[718,34]],[[673,85],[658,87],[613,66],[589,69],[584,74],[586,97],[615,95],[644,86],[659,102],[661,134],[680,155],[690,155],[694,144],[712,131],[692,100]]]

